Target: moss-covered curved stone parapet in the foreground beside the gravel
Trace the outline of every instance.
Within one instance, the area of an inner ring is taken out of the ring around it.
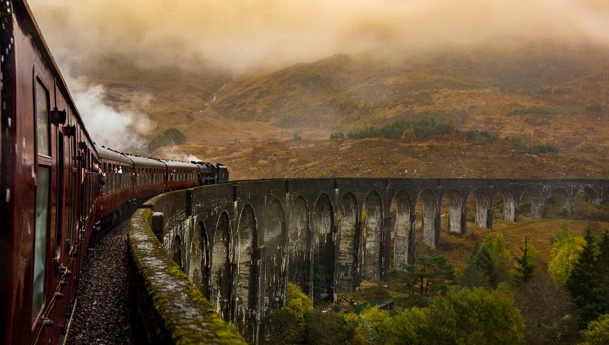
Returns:
[[[152,207],[139,209],[129,224],[129,273],[136,334],[150,344],[246,344],[191,284],[150,229]]]

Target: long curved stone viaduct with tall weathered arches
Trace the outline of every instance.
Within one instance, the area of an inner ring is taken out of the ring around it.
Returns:
[[[191,282],[246,339],[255,339],[262,316],[283,305],[287,282],[310,296],[313,289],[335,296],[412,264],[415,241],[436,248],[443,198],[450,204],[448,231],[464,234],[468,198],[475,200],[476,225],[490,228],[499,196],[503,218],[517,221],[523,195],[531,216],[541,217],[551,195],[562,195],[569,213],[582,191],[599,204],[609,181],[269,179],[168,193],[144,207],[152,209],[153,232]],[[417,202],[422,219],[416,219]]]

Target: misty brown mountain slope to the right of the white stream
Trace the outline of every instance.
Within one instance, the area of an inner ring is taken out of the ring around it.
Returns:
[[[602,63],[609,54],[586,52],[474,51],[399,63],[340,54],[233,79],[212,109],[235,120],[326,131],[435,116],[459,129],[519,134],[566,149],[592,138],[606,147],[609,65]]]

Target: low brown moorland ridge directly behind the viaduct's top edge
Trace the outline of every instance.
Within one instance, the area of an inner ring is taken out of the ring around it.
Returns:
[[[183,145],[159,157],[219,161],[231,179],[283,177],[608,178],[606,161],[529,154],[499,144],[402,143],[388,139],[274,141],[224,147]],[[602,172],[601,172],[602,170]]]

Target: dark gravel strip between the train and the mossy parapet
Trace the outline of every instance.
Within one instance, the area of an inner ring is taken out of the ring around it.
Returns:
[[[89,250],[66,344],[133,344],[127,310],[128,228],[125,220]]]

